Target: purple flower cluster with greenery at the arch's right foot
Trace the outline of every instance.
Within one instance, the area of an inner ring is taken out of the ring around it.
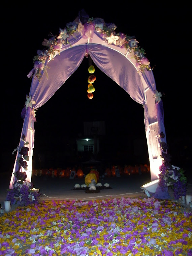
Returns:
[[[164,136],[163,132],[160,133],[160,137]],[[187,194],[187,177],[183,168],[171,165],[171,156],[167,153],[169,146],[165,142],[161,142],[161,157],[163,164],[159,167],[159,188],[168,197],[168,187],[173,191],[174,199],[178,200],[182,196]],[[159,191],[156,190],[155,197],[158,198],[157,194]]]

